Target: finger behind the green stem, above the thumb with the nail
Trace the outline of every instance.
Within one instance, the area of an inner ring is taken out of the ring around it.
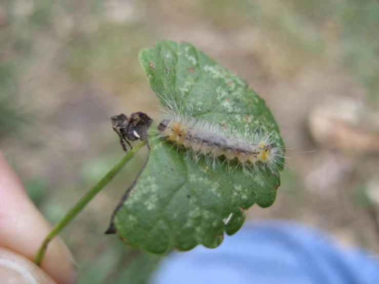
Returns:
[[[0,152],[0,246],[34,260],[50,230]],[[50,242],[41,267],[57,283],[76,283],[72,256],[59,238]]]

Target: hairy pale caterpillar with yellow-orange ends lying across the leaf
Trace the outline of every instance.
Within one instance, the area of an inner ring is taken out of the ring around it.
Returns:
[[[205,156],[214,165],[224,156],[224,161],[242,166],[245,173],[249,173],[248,169],[255,172],[266,168],[277,173],[283,165],[285,148],[278,146],[272,133],[262,133],[262,128],[257,127],[242,134],[196,119],[192,112],[184,113],[171,100],[166,100],[165,105],[167,109],[163,109],[164,117],[157,127],[161,137],[189,150],[195,160]]]

